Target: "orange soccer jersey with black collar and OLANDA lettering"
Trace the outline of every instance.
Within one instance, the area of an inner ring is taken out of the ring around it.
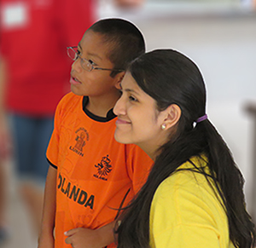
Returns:
[[[87,97],[67,94],[55,112],[47,158],[57,168],[55,248],[70,248],[65,231],[113,222],[145,182],[152,160],[135,145],[114,140],[108,119],[84,111]],[[115,247],[115,245],[108,245]]]

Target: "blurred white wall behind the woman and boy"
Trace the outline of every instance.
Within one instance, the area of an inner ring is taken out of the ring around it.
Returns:
[[[100,17],[134,21],[144,34],[148,50],[180,50],[201,68],[207,84],[208,116],[246,178],[249,204],[253,119],[245,113],[244,105],[256,101],[256,15],[244,9],[213,10],[177,13],[164,8],[163,14],[160,9],[151,14],[141,9],[132,14],[108,9]]]

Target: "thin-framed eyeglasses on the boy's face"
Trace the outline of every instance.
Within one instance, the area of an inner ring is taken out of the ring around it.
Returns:
[[[87,72],[91,72],[92,70],[102,70],[102,71],[111,71],[111,72],[123,72],[124,71],[122,69],[107,69],[107,68],[93,66],[92,61],[88,61],[79,55],[78,47],[67,47],[67,55],[73,61],[76,61],[79,58],[81,66]]]

